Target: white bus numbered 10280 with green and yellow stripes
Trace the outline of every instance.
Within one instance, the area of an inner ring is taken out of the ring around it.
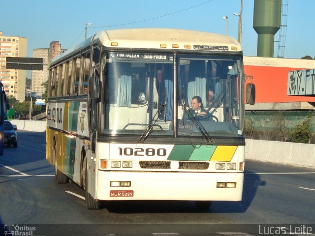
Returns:
[[[46,157],[56,182],[85,189],[89,209],[112,200],[241,201],[244,79],[241,46],[229,36],[96,33],[50,65]],[[206,115],[192,113],[194,96]]]

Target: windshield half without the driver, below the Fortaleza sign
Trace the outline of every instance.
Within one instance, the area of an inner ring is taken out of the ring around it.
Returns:
[[[151,135],[173,135],[173,68],[173,54],[108,53],[103,132],[140,136],[154,125]]]

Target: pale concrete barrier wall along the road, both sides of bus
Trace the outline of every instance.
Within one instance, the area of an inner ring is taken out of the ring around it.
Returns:
[[[46,130],[46,121],[14,119],[11,122],[18,130]],[[245,158],[315,168],[315,145],[247,139]]]

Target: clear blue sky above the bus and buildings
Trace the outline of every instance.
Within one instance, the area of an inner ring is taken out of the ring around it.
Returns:
[[[284,58],[315,57],[315,0],[287,2]],[[252,28],[254,0],[243,0],[244,56],[257,55],[257,33]],[[27,57],[34,48],[59,41],[69,49],[106,29],[174,28],[218,34],[237,39],[241,0],[0,0],[2,36],[28,38]],[[227,16],[228,21],[222,17]],[[275,35],[279,40],[279,31]],[[275,43],[277,57],[278,43]]]

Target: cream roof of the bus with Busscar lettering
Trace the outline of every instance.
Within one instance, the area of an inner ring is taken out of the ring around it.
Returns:
[[[216,33],[187,29],[112,29],[97,32],[57,56],[53,62],[89,47],[92,40],[109,48],[242,51],[241,45],[234,38]]]

